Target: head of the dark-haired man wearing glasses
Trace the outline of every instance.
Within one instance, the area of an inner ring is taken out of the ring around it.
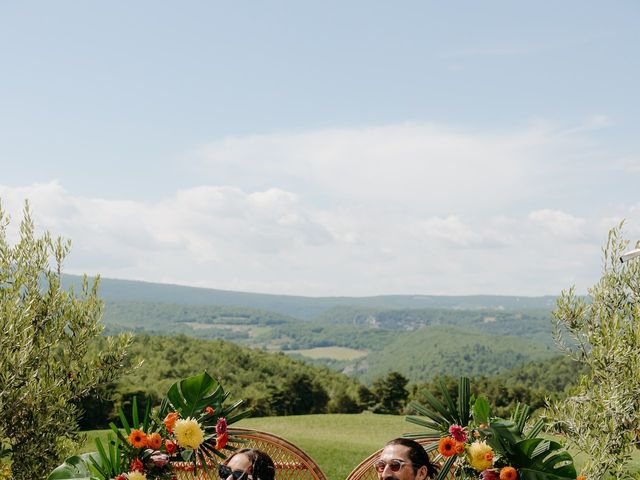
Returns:
[[[374,465],[380,480],[425,480],[437,473],[424,448],[408,438],[387,443]]]

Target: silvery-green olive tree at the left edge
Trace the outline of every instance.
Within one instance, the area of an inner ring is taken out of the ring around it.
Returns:
[[[81,292],[60,286],[70,242],[37,237],[25,204],[17,243],[0,207],[0,441],[13,478],[46,478],[74,448],[80,412],[74,402],[118,375],[130,342],[111,339],[97,355],[102,330],[98,283]]]

